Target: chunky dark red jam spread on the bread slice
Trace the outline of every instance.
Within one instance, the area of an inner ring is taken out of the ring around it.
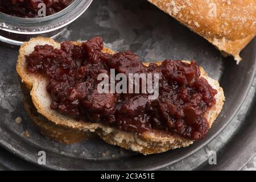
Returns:
[[[49,78],[47,91],[51,109],[82,119],[100,122],[120,130],[141,134],[151,129],[177,133],[197,140],[205,137],[209,125],[205,113],[216,104],[213,89],[200,77],[200,67],[182,61],[165,60],[148,67],[134,53],[102,53],[102,38],[81,46],[61,43],[60,49],[36,46],[26,56],[27,70]],[[159,97],[148,94],[98,93],[100,73],[159,73]]]

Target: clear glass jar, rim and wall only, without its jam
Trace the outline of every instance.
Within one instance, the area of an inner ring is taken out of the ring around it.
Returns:
[[[0,42],[20,46],[36,36],[56,38],[90,3],[92,0],[74,0],[64,10],[42,18],[18,18],[0,12]]]

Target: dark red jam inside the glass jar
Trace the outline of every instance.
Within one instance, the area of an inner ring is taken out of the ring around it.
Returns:
[[[38,17],[39,3],[46,5],[46,15],[55,14],[70,5],[73,0],[1,0],[0,12],[21,18]]]

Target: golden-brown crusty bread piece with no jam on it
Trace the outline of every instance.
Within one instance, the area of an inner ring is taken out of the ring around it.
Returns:
[[[255,0],[148,0],[210,43],[232,55],[240,52],[256,35]]]

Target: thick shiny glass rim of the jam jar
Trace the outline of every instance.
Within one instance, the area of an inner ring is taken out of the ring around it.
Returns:
[[[74,0],[65,9],[42,18],[20,18],[0,12],[0,30],[16,34],[43,34],[67,26],[88,9],[93,0]]]

